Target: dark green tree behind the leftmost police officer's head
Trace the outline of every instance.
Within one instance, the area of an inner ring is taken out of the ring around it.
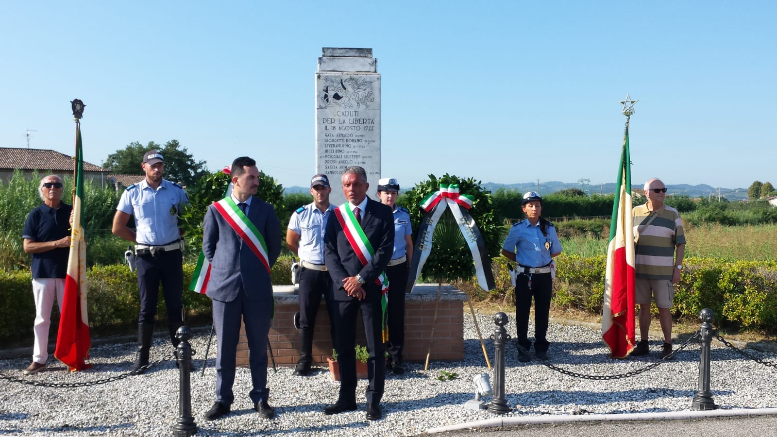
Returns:
[[[113,173],[143,174],[141,163],[143,163],[143,155],[148,150],[158,150],[165,157],[165,179],[167,180],[187,186],[208,175],[205,162],[195,161],[193,155],[178,140],[170,140],[164,146],[155,142],[149,142],[148,145],[131,142],[126,148],[108,155],[105,166]]]

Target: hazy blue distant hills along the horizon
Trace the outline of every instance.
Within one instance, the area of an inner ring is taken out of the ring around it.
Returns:
[[[541,182],[539,189],[537,189],[536,182],[526,182],[524,184],[496,184],[493,182],[486,182],[483,184],[483,188],[490,191],[497,191],[500,188],[513,189],[525,193],[526,191],[539,191],[539,194],[553,194],[556,191],[566,190],[568,188],[580,188],[580,184],[559,182],[557,180],[551,180],[549,182]],[[642,190],[642,184],[632,185],[635,190]],[[709,196],[710,194],[716,196],[718,189],[707,184],[699,185],[667,185],[668,194],[672,195],[686,195],[689,198],[700,198],[702,196]],[[406,190],[402,190],[404,192]],[[285,187],[286,194],[292,193],[308,193],[308,188],[305,187]],[[587,188],[588,194],[612,194],[615,193],[615,184],[596,184],[589,185]],[[720,188],[720,195],[730,201],[741,201],[747,199],[747,188]]]

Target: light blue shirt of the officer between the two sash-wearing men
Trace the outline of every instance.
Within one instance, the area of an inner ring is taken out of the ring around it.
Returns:
[[[316,208],[315,203],[298,208],[291,214],[288,229],[299,234],[299,259],[312,264],[324,264],[324,234],[326,221],[333,214],[335,206],[329,204],[326,212]]]

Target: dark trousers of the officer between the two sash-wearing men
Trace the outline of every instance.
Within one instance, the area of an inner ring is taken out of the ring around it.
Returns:
[[[299,327],[302,330],[299,361],[310,366],[312,357],[313,334],[315,332],[315,316],[319,313],[321,296],[326,302],[326,313],[329,314],[329,338],[332,347],[335,344],[334,304],[332,300],[332,277],[328,271],[318,271],[302,267],[299,277]]]

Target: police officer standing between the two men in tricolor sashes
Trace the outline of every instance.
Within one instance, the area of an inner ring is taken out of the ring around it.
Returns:
[[[294,375],[310,375],[313,361],[313,334],[315,334],[315,316],[324,295],[326,311],[329,313],[329,335],[335,344],[335,327],[332,303],[332,277],[324,264],[324,233],[326,222],[333,215],[333,205],[329,205],[329,178],[326,174],[317,174],[310,181],[310,194],[313,203],[294,211],[286,230],[286,247],[300,259],[299,276],[299,360]]]

